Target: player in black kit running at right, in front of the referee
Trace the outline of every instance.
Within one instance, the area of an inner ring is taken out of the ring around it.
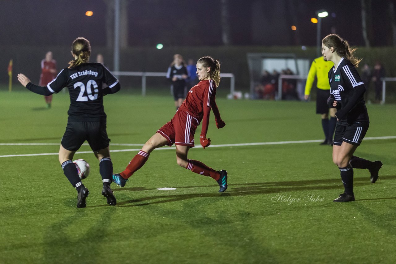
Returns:
[[[337,108],[337,126],[333,141],[333,162],[339,167],[345,191],[335,202],[354,201],[353,168],[369,169],[370,180],[378,179],[381,161],[369,161],[353,156],[369,128],[369,116],[363,94],[366,91],[356,67],[360,59],[353,56],[346,40],[337,34],[322,40],[322,55],[334,66],[329,71],[330,97],[327,104]]]

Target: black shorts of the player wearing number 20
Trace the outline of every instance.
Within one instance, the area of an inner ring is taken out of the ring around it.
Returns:
[[[61,144],[63,148],[77,151],[84,141],[88,141],[92,151],[96,152],[109,146],[106,122],[67,122]]]

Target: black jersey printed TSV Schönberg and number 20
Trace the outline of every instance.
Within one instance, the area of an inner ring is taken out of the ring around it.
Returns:
[[[67,87],[70,93],[69,121],[97,122],[106,120],[103,109],[103,84],[110,88],[118,83],[101,63],[83,63],[65,68],[47,84],[52,93]]]

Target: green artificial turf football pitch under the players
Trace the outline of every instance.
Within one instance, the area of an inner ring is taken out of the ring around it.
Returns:
[[[343,192],[331,147],[322,140],[314,102],[217,98],[227,125],[192,148],[188,158],[228,171],[228,189],[179,167],[174,148],[154,150],[124,188],[112,184],[117,205],[101,196],[98,161],[83,182],[87,207],[57,158],[67,122],[68,93],[44,98],[0,92],[0,263],[394,263],[396,139],[365,139],[355,155],[381,160],[375,184],[354,169],[356,201],[333,203]],[[170,95],[120,91],[104,98],[114,172],[122,171],[174,114]],[[396,136],[396,105],[367,105],[366,137]],[[200,127],[198,127],[198,132]],[[196,139],[198,137],[196,134]],[[198,140],[197,140],[198,142]],[[23,145],[6,145],[21,143]],[[25,145],[38,143],[38,145]],[[46,143],[49,145],[43,145]],[[230,144],[228,146],[217,146]],[[131,149],[130,151],[122,151]],[[89,146],[79,151],[89,152]],[[54,154],[55,153],[55,154]],[[39,156],[7,156],[49,154]],[[176,190],[157,190],[173,187]]]

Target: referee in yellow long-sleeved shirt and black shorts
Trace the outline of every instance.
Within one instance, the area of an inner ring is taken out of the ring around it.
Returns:
[[[329,70],[333,66],[334,63],[325,61],[323,56],[314,59],[308,72],[304,93],[305,100],[308,100],[316,77],[316,114],[321,115],[322,128],[325,135],[325,140],[320,144],[330,146],[333,145],[333,134],[337,123],[337,118],[335,117],[337,108],[330,108],[329,120],[329,106],[327,106],[327,99],[330,96]]]

